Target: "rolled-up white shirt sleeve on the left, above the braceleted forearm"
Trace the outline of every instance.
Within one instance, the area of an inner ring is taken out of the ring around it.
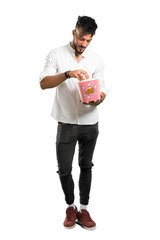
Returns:
[[[46,57],[43,72],[40,73],[39,81],[41,82],[46,76],[54,76],[57,73],[57,56],[55,50],[52,50]]]

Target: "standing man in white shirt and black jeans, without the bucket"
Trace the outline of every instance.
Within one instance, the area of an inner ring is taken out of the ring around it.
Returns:
[[[73,228],[77,221],[86,229],[94,229],[96,223],[87,211],[92,178],[92,156],[98,136],[97,105],[106,97],[103,80],[104,64],[101,58],[87,49],[93,39],[97,24],[91,17],[78,17],[73,40],[66,46],[52,50],[46,58],[40,75],[42,89],[56,87],[52,116],[58,122],[56,153],[58,174],[68,204],[64,227]],[[101,99],[81,102],[77,89],[78,80],[98,78]],[[79,144],[80,211],[74,204],[72,161],[76,143]]]

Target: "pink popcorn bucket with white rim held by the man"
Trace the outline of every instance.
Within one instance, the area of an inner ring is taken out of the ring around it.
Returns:
[[[89,78],[79,81],[78,89],[82,102],[92,102],[100,99],[99,79]]]

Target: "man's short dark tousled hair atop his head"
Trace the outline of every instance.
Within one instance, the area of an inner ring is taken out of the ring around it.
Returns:
[[[87,16],[79,16],[76,27],[82,28],[84,34],[91,34],[93,36],[98,26],[93,18]]]

